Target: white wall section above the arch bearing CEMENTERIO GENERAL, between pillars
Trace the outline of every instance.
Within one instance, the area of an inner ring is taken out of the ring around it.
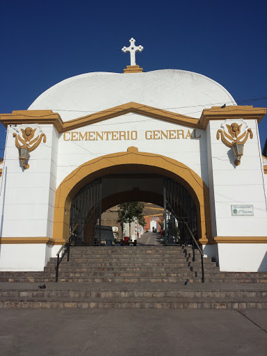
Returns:
[[[115,152],[127,152],[130,146],[138,147],[140,152],[149,152],[168,156],[188,165],[206,184],[209,183],[207,175],[207,143],[206,131],[197,129],[196,136],[201,138],[146,140],[147,130],[184,130],[193,129],[169,122],[163,122],[143,115],[129,113],[118,118],[109,119],[81,127],[73,131],[85,133],[86,131],[138,131],[137,140],[64,140],[60,135],[58,142],[58,179],[57,186],[63,179],[79,165],[99,156]],[[67,138],[69,135],[66,136]]]

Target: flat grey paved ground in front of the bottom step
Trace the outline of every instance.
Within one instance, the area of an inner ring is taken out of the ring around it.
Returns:
[[[6,309],[0,318],[3,356],[263,356],[267,350],[267,310],[259,309]]]

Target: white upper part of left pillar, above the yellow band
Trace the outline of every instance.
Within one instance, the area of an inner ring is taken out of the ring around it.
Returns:
[[[28,125],[8,127],[6,160],[0,196],[2,237],[53,237],[56,191],[57,139],[52,124],[44,125],[46,143],[30,153],[28,170],[19,161],[13,132]],[[32,127],[32,125],[29,125]]]

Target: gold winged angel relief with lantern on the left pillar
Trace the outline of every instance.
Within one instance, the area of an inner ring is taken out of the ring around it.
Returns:
[[[20,129],[20,131],[22,131],[22,137],[17,133],[13,133],[13,137],[15,137],[15,145],[17,149],[19,149],[19,159],[22,161],[23,167],[27,170],[30,165],[29,163],[25,163],[25,161],[29,158],[29,153],[36,149],[42,140],[46,143],[47,136],[41,133],[34,138],[36,129],[32,129],[31,127]]]

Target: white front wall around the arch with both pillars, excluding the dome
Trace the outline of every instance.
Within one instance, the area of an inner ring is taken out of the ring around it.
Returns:
[[[58,135],[53,125],[44,125],[42,131],[46,133],[47,142],[41,143],[31,152],[29,170],[23,170],[19,164],[18,150],[12,136],[14,129],[8,128],[0,196],[0,236],[53,237],[55,191],[61,181],[79,165],[106,154],[126,152],[130,146],[138,147],[140,152],[158,153],[175,159],[188,165],[202,177],[210,189],[213,236],[266,236],[264,181],[266,183],[267,176],[264,175],[261,163],[257,122],[247,122],[252,128],[254,138],[248,138],[245,143],[244,156],[238,167],[233,164],[236,157],[232,149],[226,147],[221,140],[216,140],[216,133],[222,122],[211,121],[207,133],[197,130],[197,136],[201,135],[201,138],[162,140],[146,140],[145,131],[184,130],[186,134],[188,129],[191,132],[193,129],[143,115],[127,114],[74,131],[137,131],[136,140],[71,141],[63,140],[63,134]],[[15,130],[26,126],[17,126]],[[252,204],[254,216],[232,216],[232,204]],[[227,268],[227,256],[231,255],[228,268],[240,270],[245,268],[245,257],[234,259],[236,252],[240,251],[236,250],[238,245],[241,245],[240,250],[244,256],[251,260],[248,263],[249,270],[266,268],[265,262],[261,266],[266,252],[265,244],[220,244],[219,250],[216,245],[207,245],[204,246],[204,253],[216,259],[219,254],[221,268]],[[42,244],[1,245],[0,266],[7,269],[12,267],[13,270],[42,270],[45,261],[51,255],[54,256],[59,248],[60,246],[51,248]],[[254,252],[257,252],[257,256]],[[8,255],[12,255],[10,260]]]

